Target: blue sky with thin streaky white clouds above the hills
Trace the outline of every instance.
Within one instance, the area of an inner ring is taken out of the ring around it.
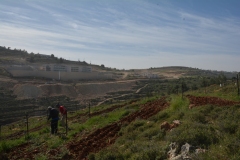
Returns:
[[[0,0],[0,46],[117,69],[240,71],[239,0]]]

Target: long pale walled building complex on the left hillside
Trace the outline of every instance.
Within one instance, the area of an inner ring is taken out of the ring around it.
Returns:
[[[13,77],[41,77],[57,80],[111,79],[111,73],[92,71],[90,66],[71,66],[63,64],[9,65],[6,70]]]

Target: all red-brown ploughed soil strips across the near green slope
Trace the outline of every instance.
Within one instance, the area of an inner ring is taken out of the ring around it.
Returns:
[[[186,97],[189,99],[190,106],[192,107],[204,106],[208,104],[214,106],[229,106],[240,104],[240,102],[224,100],[216,97],[196,97],[193,95],[187,95]],[[89,118],[91,119],[99,115],[112,113],[118,109],[123,109],[124,107],[126,109],[127,106],[135,103],[137,103],[136,100],[121,105],[113,105],[111,107],[92,112],[90,115],[88,115],[87,112],[82,114],[76,114],[75,116],[70,117],[69,121],[83,124]],[[154,101],[142,104],[141,106],[139,106],[138,110],[120,118],[113,123],[107,124],[100,128],[92,129],[89,133],[76,133],[74,137],[72,137],[72,139],[67,140],[66,143],[59,147],[49,150],[48,145],[45,142],[36,145],[35,143],[29,141],[27,143],[23,143],[12,148],[8,152],[7,157],[13,160],[34,159],[34,156],[36,154],[42,154],[45,155],[47,159],[56,159],[56,157],[59,157],[58,159],[87,159],[89,154],[100,152],[102,149],[114,144],[119,137],[123,136],[122,134],[119,134],[119,131],[123,126],[126,127],[130,125],[130,123],[132,123],[136,119],[149,119],[150,117],[166,109],[169,105],[170,104],[169,102],[167,102],[167,98],[162,97],[160,99],[156,99]],[[39,131],[41,128],[44,127],[46,127],[45,124],[33,128],[32,132]],[[23,133],[19,132],[19,134],[11,135],[8,138],[19,138],[21,136],[23,136]],[[59,136],[61,137],[61,135]]]

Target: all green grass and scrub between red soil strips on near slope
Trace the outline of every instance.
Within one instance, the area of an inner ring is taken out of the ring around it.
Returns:
[[[225,87],[211,86],[204,90],[197,90],[185,94],[197,96],[218,96],[224,99],[239,101],[234,86]],[[27,138],[31,142],[29,150],[44,147],[46,150],[58,148],[62,150],[61,158],[68,152],[65,144],[73,140],[78,135],[78,139],[84,135],[115,122],[122,117],[139,109],[140,104],[144,104],[154,98],[145,98],[140,102],[129,104],[124,108],[113,112],[95,116],[85,122],[70,121],[72,130],[68,136],[49,136],[49,127],[41,131],[31,133]],[[120,137],[115,144],[101,150],[99,153],[89,155],[90,159],[166,159],[168,145],[171,142],[191,145],[207,149],[205,154],[201,154],[195,159],[239,159],[240,158],[240,106],[218,107],[212,105],[199,106],[188,109],[189,101],[180,95],[171,95],[168,100],[171,106],[159,112],[148,120],[137,119],[129,125],[123,126],[119,132]],[[102,106],[102,109],[110,106]],[[96,108],[97,110],[97,108]],[[86,113],[87,110],[80,111]],[[70,115],[74,116],[74,115]],[[171,123],[173,120],[180,120],[181,125],[171,132],[160,129],[164,121]],[[59,132],[64,132],[60,127]],[[13,146],[25,143],[24,137],[18,140],[3,140],[0,142],[0,151],[8,151]],[[46,153],[47,151],[45,151]],[[36,154],[35,159],[48,159],[44,153]]]

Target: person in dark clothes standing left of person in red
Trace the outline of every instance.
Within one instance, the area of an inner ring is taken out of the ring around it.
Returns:
[[[48,107],[48,112],[48,120],[51,119],[51,134],[56,134],[58,131],[59,112],[51,106]]]

